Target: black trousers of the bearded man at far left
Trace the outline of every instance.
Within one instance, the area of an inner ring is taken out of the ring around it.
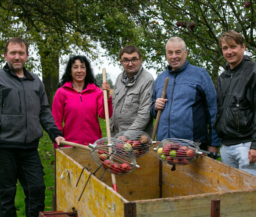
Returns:
[[[16,217],[17,179],[23,187],[26,217],[44,211],[44,172],[37,149],[0,148],[0,217]]]

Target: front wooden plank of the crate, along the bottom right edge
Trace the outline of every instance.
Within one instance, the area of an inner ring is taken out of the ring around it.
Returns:
[[[255,216],[256,189],[133,201],[137,217],[209,217],[211,201],[220,199],[220,216]]]

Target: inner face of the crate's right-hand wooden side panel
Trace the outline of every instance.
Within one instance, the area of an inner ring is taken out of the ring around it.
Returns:
[[[163,197],[205,194],[256,187],[256,176],[209,157],[176,166],[163,163]]]

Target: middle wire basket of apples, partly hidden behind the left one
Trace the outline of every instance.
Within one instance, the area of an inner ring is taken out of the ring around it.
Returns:
[[[152,141],[147,133],[140,130],[127,130],[119,132],[114,137],[130,144],[137,158],[148,154],[148,152],[152,149],[152,145],[159,143]]]

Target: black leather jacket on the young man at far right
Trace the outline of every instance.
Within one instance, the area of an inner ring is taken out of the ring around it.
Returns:
[[[256,63],[244,55],[243,60],[219,76],[214,128],[224,145],[252,141],[256,149]]]

